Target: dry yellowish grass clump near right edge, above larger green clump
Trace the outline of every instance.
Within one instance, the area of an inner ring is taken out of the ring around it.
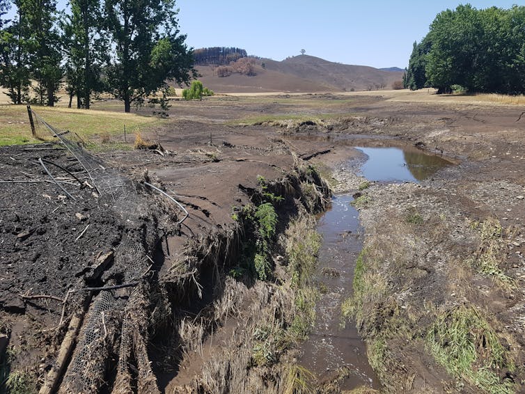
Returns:
[[[480,248],[467,263],[478,269],[481,274],[493,278],[505,290],[516,286],[515,280],[506,275],[500,267],[504,251],[502,248],[502,228],[497,219],[489,218],[481,223],[473,222],[471,228],[478,230],[481,237]]]

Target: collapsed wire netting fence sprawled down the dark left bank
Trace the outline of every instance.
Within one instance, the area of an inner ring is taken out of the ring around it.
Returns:
[[[70,155],[75,157],[86,172],[92,182],[91,186],[96,188],[99,206],[107,207],[111,214],[123,223],[123,239],[116,248],[113,266],[123,267],[125,283],[139,280],[150,267],[150,258],[144,246],[143,230],[137,227],[136,221],[148,213],[148,205],[141,203],[136,183],[87,152],[84,141],[77,134],[61,132],[45,122],[34,111],[32,113],[36,136],[46,141],[63,143]],[[136,289],[124,291],[130,296],[129,302],[138,297]],[[104,314],[105,316],[123,315],[123,323],[120,327],[118,373],[123,374],[129,369],[128,361],[130,346],[132,346],[130,327],[134,324],[129,322],[129,317],[123,313],[125,308],[126,302],[122,297],[117,296],[116,290],[102,291],[94,298],[84,320],[72,360],[65,372],[62,392],[93,393],[99,391],[104,384],[104,356],[105,358],[109,356],[106,343],[107,330],[103,322]]]

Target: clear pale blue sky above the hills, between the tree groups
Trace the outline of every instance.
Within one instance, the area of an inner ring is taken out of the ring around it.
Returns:
[[[177,0],[190,47],[238,47],[281,61],[306,54],[344,64],[405,68],[437,13],[461,3],[510,8],[517,0]]]

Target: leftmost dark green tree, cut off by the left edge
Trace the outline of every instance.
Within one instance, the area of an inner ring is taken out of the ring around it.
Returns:
[[[13,21],[0,31],[0,85],[7,88],[6,95],[13,104],[22,104],[29,100],[29,26],[26,24],[26,10],[21,7],[21,0],[14,2],[17,8]],[[1,3],[3,13],[8,3]],[[2,15],[3,16],[3,15]]]

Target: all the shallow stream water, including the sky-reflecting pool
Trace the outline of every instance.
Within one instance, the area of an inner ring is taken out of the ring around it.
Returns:
[[[361,175],[375,182],[420,182],[450,162],[427,155],[416,148],[361,148]],[[355,161],[350,168],[355,168]],[[355,191],[353,191],[355,192]],[[368,363],[366,345],[359,337],[355,322],[341,325],[341,303],[352,296],[356,258],[363,248],[364,232],[359,212],[350,204],[351,194],[338,194],[318,221],[323,237],[315,280],[320,288],[313,330],[301,347],[299,362],[311,370],[321,383],[347,376],[341,390],[359,386],[380,388]],[[343,371],[346,373],[341,373]]]

